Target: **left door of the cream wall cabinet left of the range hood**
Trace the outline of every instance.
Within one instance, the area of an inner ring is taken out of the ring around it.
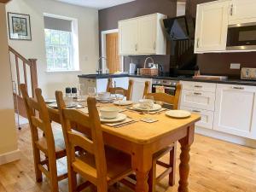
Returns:
[[[137,54],[137,20],[119,21],[119,55]]]

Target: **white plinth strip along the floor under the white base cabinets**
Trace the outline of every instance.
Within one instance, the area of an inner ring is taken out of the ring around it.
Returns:
[[[205,129],[197,126],[195,127],[195,132],[203,136],[216,138],[216,139],[223,140],[230,143],[236,143],[249,148],[256,148],[256,140],[253,140],[253,139],[238,137],[238,136],[230,135],[227,133],[209,130],[209,129]]]

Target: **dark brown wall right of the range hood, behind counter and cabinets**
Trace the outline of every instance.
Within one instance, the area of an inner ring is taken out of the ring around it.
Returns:
[[[195,16],[196,5],[207,2],[212,0],[187,0],[187,13]],[[197,62],[203,74],[238,76],[240,70],[230,69],[230,63],[241,63],[241,67],[256,67],[256,52],[201,54]]]

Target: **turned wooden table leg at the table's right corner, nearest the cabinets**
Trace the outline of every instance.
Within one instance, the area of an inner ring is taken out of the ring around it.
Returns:
[[[189,160],[190,146],[194,141],[195,126],[188,128],[188,135],[179,141],[181,144],[180,165],[179,165],[179,186],[178,192],[189,192]]]

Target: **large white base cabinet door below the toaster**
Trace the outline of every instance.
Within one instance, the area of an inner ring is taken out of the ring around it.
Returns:
[[[213,129],[256,138],[256,88],[218,84]]]

